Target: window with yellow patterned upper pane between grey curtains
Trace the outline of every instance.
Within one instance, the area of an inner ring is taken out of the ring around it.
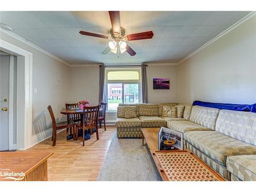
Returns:
[[[140,69],[106,69],[108,111],[117,111],[119,103],[140,102]]]

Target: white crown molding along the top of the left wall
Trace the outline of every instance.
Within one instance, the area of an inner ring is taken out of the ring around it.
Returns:
[[[5,31],[5,30],[3,30],[3,29],[0,29],[0,32],[3,32],[3,33],[5,33],[5,34],[7,34],[7,35],[9,35],[9,36],[11,36],[11,37],[13,37],[13,38],[15,38],[16,40],[21,41],[21,42],[23,42],[24,44],[26,44],[26,45],[28,45],[28,46],[30,46],[30,47],[32,47],[32,48],[34,48],[34,49],[36,49],[36,50],[38,50],[38,51],[40,51],[40,52],[46,54],[46,55],[48,55],[48,56],[50,56],[50,57],[52,57],[52,58],[58,60],[59,62],[62,62],[63,64],[65,64],[65,65],[67,65],[67,66],[70,66],[70,63],[68,63],[68,62],[66,62],[65,60],[62,60],[62,59],[56,57],[55,55],[53,55],[53,54],[47,52],[47,51],[44,50],[44,49],[39,48],[38,46],[32,44],[32,42],[29,42],[28,40],[24,39],[23,37],[20,37],[20,36],[16,35],[15,33],[12,33],[12,32],[10,32],[10,31]]]

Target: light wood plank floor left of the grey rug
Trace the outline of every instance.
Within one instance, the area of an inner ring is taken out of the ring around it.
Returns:
[[[48,160],[48,181],[96,181],[116,130],[107,126],[106,131],[99,129],[82,146],[82,138],[67,140],[66,131],[57,134],[56,146],[51,138],[29,148],[29,152],[54,152]]]

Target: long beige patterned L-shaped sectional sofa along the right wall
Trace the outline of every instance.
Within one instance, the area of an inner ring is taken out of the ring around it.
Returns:
[[[180,118],[162,117],[163,106],[182,106]],[[125,106],[136,117],[125,118]],[[135,108],[133,108],[135,109]],[[119,104],[118,138],[141,138],[143,127],[165,126],[184,133],[185,146],[225,179],[256,181],[256,114],[188,103]]]

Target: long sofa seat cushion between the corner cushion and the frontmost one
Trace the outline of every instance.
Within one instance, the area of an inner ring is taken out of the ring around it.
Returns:
[[[226,165],[227,156],[256,155],[256,146],[216,131],[186,132],[184,139],[222,165]]]

